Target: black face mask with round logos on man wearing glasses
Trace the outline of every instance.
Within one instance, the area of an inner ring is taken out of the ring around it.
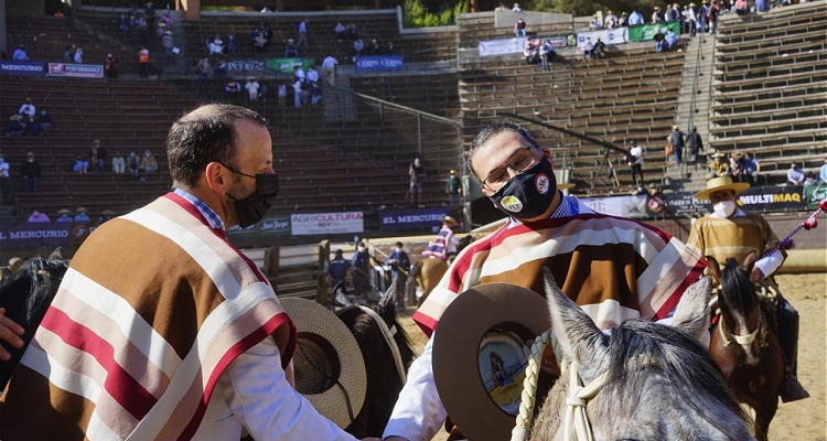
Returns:
[[[548,211],[556,193],[555,172],[548,160],[543,158],[535,166],[512,178],[488,198],[508,216],[530,219]]]

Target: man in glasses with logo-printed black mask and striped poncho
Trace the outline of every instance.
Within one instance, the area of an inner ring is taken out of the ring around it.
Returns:
[[[432,333],[447,305],[468,289],[507,282],[545,295],[546,267],[562,291],[608,329],[631,318],[668,318],[706,266],[668,233],[594,213],[577,197],[565,196],[557,189],[549,150],[519,125],[483,129],[471,143],[469,160],[483,194],[508,219],[464,248],[415,313],[431,340],[408,372],[386,441],[429,440],[445,420],[433,380]]]

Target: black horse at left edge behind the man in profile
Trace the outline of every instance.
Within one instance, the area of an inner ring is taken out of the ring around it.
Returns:
[[[6,389],[11,375],[20,364],[67,269],[68,260],[63,259],[58,248],[49,257],[37,256],[26,260],[0,286],[0,308],[4,308],[6,316],[24,330],[21,336],[23,347],[17,348],[0,342],[11,353],[11,359],[0,362],[0,390]]]

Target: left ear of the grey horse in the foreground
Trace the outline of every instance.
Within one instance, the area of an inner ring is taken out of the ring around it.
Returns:
[[[580,306],[557,288],[551,270],[543,268],[546,299],[551,316],[551,332],[560,342],[563,354],[581,367],[597,367],[608,356],[609,336],[598,329]],[[583,372],[584,376],[588,376]]]

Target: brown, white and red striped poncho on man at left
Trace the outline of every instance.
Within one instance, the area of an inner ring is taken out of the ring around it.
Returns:
[[[0,439],[192,438],[222,373],[268,337],[287,367],[296,330],[267,279],[168,194],[78,249],[0,397]]]

